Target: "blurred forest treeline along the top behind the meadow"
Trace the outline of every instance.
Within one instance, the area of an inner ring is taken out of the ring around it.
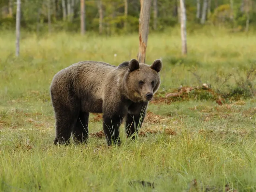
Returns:
[[[21,28],[28,31],[138,32],[139,0],[22,0]],[[152,0],[150,28],[161,31],[180,22],[179,0]],[[225,25],[247,31],[256,23],[255,0],[185,0],[188,26]],[[16,0],[0,1],[0,28],[15,29]],[[197,24],[198,23],[198,24]],[[197,24],[197,25],[196,25]]]

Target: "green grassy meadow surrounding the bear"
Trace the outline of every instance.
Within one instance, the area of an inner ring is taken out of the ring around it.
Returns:
[[[191,31],[182,57],[179,28],[150,32],[146,63],[162,59],[162,83],[143,134],[129,141],[122,126],[122,145],[107,147],[105,137],[91,134],[102,120],[90,114],[87,145],[55,146],[54,74],[82,60],[136,58],[138,35],[22,33],[16,58],[14,32],[0,32],[0,191],[256,191],[255,42],[253,33]],[[192,90],[161,102],[181,85],[202,83],[214,93]]]

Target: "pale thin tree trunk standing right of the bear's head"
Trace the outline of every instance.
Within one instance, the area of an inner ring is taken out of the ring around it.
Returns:
[[[184,0],[180,0],[181,8],[181,45],[182,45],[182,54],[187,54],[187,30],[186,30],[186,8],[184,5]]]

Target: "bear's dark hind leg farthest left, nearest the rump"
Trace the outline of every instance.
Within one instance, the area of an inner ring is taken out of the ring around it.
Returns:
[[[69,110],[62,109],[55,112],[56,119],[56,136],[55,144],[69,144],[71,131],[77,121],[77,116],[72,114]]]

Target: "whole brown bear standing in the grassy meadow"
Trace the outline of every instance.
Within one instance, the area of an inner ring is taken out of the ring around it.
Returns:
[[[84,61],[60,70],[51,83],[55,112],[55,144],[88,140],[89,113],[103,113],[108,146],[120,145],[119,126],[126,119],[128,138],[135,138],[145,118],[148,102],[160,86],[162,62],[151,66],[136,59],[119,66]]]

